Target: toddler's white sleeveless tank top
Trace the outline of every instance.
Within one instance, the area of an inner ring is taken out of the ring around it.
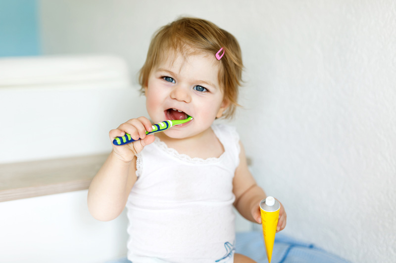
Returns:
[[[219,158],[191,158],[158,138],[138,154],[126,204],[133,263],[234,262],[239,136],[228,125],[212,129],[224,147]]]

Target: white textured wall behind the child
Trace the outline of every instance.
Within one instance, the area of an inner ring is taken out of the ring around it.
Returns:
[[[235,123],[285,233],[395,262],[395,1],[41,0],[41,14],[45,53],[118,54],[133,75],[180,15],[234,34],[247,81]]]

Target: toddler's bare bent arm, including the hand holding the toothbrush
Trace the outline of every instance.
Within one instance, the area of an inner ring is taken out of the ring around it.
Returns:
[[[109,132],[110,141],[115,137],[131,135],[141,140],[114,146],[107,160],[100,168],[88,189],[88,209],[91,215],[100,221],[110,221],[118,217],[124,210],[129,192],[134,186],[136,176],[136,154],[154,141],[151,123],[146,117],[131,119]]]

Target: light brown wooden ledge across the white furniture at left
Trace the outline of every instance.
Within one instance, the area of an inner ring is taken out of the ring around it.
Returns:
[[[0,202],[88,189],[107,156],[0,164]]]

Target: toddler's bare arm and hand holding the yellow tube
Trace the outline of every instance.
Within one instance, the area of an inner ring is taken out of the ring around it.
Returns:
[[[233,191],[235,194],[234,206],[244,218],[251,222],[261,224],[260,201],[266,198],[266,194],[262,188],[257,186],[251,175],[247,167],[245,149],[242,143],[240,143],[240,146],[240,163],[235,171],[233,181]],[[286,212],[281,203],[277,231],[282,230],[285,226]]]

